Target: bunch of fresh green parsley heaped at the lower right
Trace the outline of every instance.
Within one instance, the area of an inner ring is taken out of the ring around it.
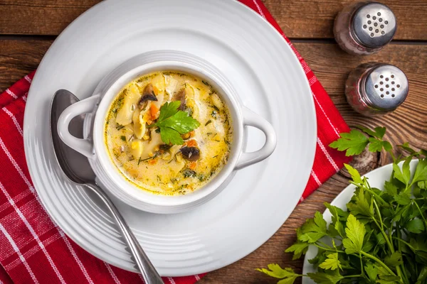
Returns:
[[[384,149],[393,159],[391,178],[381,191],[345,165],[357,187],[347,211],[325,203],[332,223],[316,212],[297,229],[297,242],[286,250],[297,259],[309,246],[316,246],[317,256],[310,263],[317,272],[301,275],[278,264],[258,269],[281,279],[279,284],[292,284],[302,276],[322,284],[427,283],[427,151],[415,151],[404,143],[399,147],[408,155],[396,158],[391,144],[383,140],[385,128],[360,129],[342,133],[330,146],[347,151],[346,155],[358,155],[368,145],[371,152]],[[411,174],[413,158],[418,165]]]

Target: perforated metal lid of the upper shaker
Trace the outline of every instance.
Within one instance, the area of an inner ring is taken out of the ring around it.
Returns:
[[[389,43],[397,28],[393,11],[377,2],[364,4],[357,9],[351,25],[355,39],[369,48],[380,48]]]

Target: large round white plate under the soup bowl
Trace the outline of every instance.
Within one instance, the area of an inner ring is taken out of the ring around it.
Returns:
[[[28,94],[24,143],[38,195],[65,234],[85,250],[130,271],[129,254],[102,204],[65,181],[53,159],[48,109],[57,89],[80,99],[121,62],[173,49],[209,60],[231,78],[241,104],[268,119],[278,147],[237,173],[214,200],[191,212],[159,215],[114,200],[162,275],[212,271],[251,253],[297,204],[315,155],[310,86],[281,35],[231,0],[102,1],[61,33],[43,58]],[[248,150],[263,145],[249,131]]]

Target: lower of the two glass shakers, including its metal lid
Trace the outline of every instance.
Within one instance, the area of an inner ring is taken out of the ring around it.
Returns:
[[[345,83],[352,108],[364,116],[394,111],[408,95],[408,78],[394,65],[367,62],[354,69]]]

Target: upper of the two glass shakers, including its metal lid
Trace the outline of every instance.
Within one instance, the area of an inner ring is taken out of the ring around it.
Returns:
[[[391,9],[378,2],[357,2],[346,6],[334,22],[334,37],[347,53],[369,55],[390,42],[397,28]]]

